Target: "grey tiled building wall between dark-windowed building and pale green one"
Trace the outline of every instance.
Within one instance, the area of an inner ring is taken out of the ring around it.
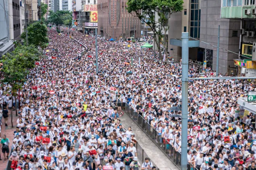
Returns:
[[[208,4],[207,4],[208,3]],[[206,5],[208,7],[206,7]],[[207,11],[206,11],[207,9]],[[207,17],[207,18],[206,18]],[[234,52],[239,52],[239,37],[232,37],[232,30],[240,29],[240,21],[232,19],[221,19],[221,1],[202,0],[201,2],[201,27],[200,40],[217,46],[218,25],[220,25],[220,47]],[[206,22],[207,19],[207,22]],[[213,70],[216,70],[216,47],[200,42],[200,47],[213,50]],[[233,67],[233,59],[237,55],[219,50],[219,72],[225,74],[228,67]]]

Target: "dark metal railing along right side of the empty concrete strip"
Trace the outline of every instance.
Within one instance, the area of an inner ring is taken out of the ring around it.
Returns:
[[[177,152],[173,147],[173,144],[168,142],[162,134],[159,134],[157,130],[152,127],[148,120],[145,120],[141,115],[134,111],[134,109],[124,102],[115,102],[114,106],[121,105],[122,110],[136,123],[142,131],[158,146],[158,148],[173,162],[176,167],[181,169],[181,153]],[[187,165],[188,170],[198,170],[193,168],[193,165]]]

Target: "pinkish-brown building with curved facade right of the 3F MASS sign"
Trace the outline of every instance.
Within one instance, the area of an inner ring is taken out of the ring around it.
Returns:
[[[98,34],[106,38],[126,39],[141,36],[141,20],[128,13],[127,0],[100,0],[98,3]]]

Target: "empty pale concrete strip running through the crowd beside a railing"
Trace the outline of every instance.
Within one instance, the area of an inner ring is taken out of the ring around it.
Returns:
[[[170,159],[166,157],[166,155],[155,145],[155,143],[152,142],[152,140],[149,139],[149,137],[147,137],[141,128],[139,128],[139,126],[134,123],[134,121],[131,120],[131,118],[126,113],[123,114],[123,116],[119,119],[126,129],[131,126],[140,147],[144,150],[146,155],[150,158],[150,161],[152,161],[155,166],[157,166],[160,170],[178,170],[173,162],[171,162]],[[139,149],[137,152],[138,157],[140,157]]]

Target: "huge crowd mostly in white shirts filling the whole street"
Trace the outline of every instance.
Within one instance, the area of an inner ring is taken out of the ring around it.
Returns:
[[[157,142],[169,156],[171,148],[181,152],[181,118],[171,116],[181,115],[171,110],[182,106],[180,62],[153,60],[152,49],[98,37],[96,74],[95,36],[51,28],[48,37],[45,55],[30,71],[19,98],[11,98],[8,84],[0,90],[2,126],[8,126],[13,107],[19,108],[13,143],[5,132],[0,142],[2,158],[13,169],[156,170],[148,157],[138,161],[133,127],[119,120],[122,103],[158,132]],[[192,65],[189,76],[216,73]],[[251,80],[189,82],[188,167],[256,170],[256,116],[241,116],[237,104],[255,90]]]

